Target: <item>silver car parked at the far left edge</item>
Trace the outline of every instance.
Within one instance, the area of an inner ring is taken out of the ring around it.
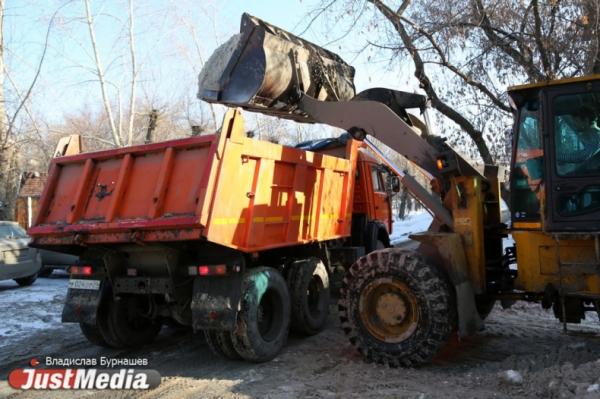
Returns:
[[[42,267],[42,256],[29,248],[30,238],[15,222],[0,221],[0,280],[13,279],[20,286],[33,284]]]

